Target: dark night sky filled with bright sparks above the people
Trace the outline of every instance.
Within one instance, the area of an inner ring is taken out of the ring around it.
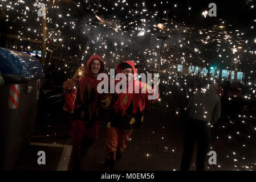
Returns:
[[[35,6],[38,1],[21,2],[1,2],[8,15],[5,22],[8,32],[42,39],[42,22],[36,15],[38,8]],[[211,63],[225,69],[232,62],[230,59],[238,61],[238,69],[243,72],[255,68],[254,1],[216,1],[216,17],[202,15],[202,12],[209,11],[210,1],[122,0],[99,3],[69,0],[54,1],[54,5],[53,1],[45,2],[51,7],[47,11],[47,26],[52,33],[48,33],[48,40],[54,39],[56,45],[61,44],[66,53],[60,67],[70,60],[86,61],[92,53],[97,53],[106,59],[109,67],[121,60],[132,59],[155,69],[161,45],[161,40],[156,38],[161,30],[156,26],[166,22],[169,39],[165,40],[162,49],[162,69],[165,69],[164,63],[198,66]],[[95,18],[94,12],[101,22]],[[162,20],[166,16],[168,20]],[[98,26],[92,31],[87,49],[90,20],[96,21]],[[30,46],[33,50],[34,47]],[[23,51],[26,48],[26,43],[17,47]],[[49,46],[48,50],[54,48]]]

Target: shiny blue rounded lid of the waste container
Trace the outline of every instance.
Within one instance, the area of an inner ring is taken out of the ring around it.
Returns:
[[[26,75],[43,77],[42,64],[34,56],[0,47],[0,71],[2,75]]]

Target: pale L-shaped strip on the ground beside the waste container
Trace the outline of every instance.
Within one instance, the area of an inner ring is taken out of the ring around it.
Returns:
[[[46,147],[63,147],[62,156],[59,161],[57,171],[67,171],[68,164],[70,163],[70,155],[72,152],[72,146],[67,144],[50,144],[50,143],[30,143],[32,146],[46,146]]]

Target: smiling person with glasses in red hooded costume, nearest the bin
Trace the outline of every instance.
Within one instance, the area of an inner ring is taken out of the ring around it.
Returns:
[[[100,116],[103,111],[100,107],[101,100],[105,101],[103,108],[110,105],[109,95],[99,94],[97,75],[104,72],[104,62],[98,55],[93,55],[87,61],[86,70],[77,85],[77,93],[74,103],[74,134],[73,134],[73,169],[81,169],[81,159],[86,155],[88,148],[95,142]],[[72,89],[71,85],[71,89]],[[76,86],[74,86],[76,88]]]

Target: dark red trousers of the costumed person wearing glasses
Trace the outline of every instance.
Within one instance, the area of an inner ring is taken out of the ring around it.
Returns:
[[[81,156],[81,147],[86,139],[88,147],[95,142],[99,133],[99,121],[93,123],[85,123],[82,121],[75,121],[75,126],[73,129],[73,154],[79,159]]]

